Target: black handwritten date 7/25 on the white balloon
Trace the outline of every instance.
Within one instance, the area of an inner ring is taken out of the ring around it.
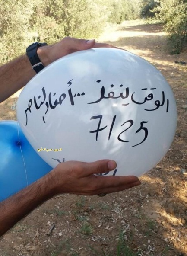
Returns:
[[[113,131],[113,128],[114,128],[114,125],[115,125],[115,121],[116,121],[116,116],[117,115],[114,115],[114,117],[112,119],[112,122],[111,122],[111,125],[110,125],[110,130],[108,132],[108,140],[110,140],[110,138],[111,138],[111,134],[112,134],[112,131]],[[92,116],[90,118],[90,120],[98,119],[97,129],[94,130],[94,131],[90,131],[90,133],[95,133],[96,134],[96,136],[95,136],[96,141],[98,141],[99,132],[105,130],[108,127],[108,125],[105,125],[105,126],[101,127],[102,118],[103,118],[103,115],[95,115],[95,116]],[[131,147],[136,147],[136,146],[142,144],[146,140],[146,138],[148,136],[148,129],[145,127],[146,123],[148,123],[148,121],[140,122],[139,129],[135,132],[136,134],[143,133],[144,134],[143,140],[140,141],[139,143],[137,143],[136,145],[131,146]],[[128,127],[127,127],[126,124],[128,125]],[[132,119],[129,119],[126,122],[121,124],[121,127],[123,127],[125,125],[125,127],[127,127],[127,128],[124,129],[123,131],[121,131],[120,134],[117,136],[118,141],[129,142],[129,141],[125,141],[125,140],[122,139],[122,134],[124,134],[127,130],[129,130],[133,126],[133,124],[134,124],[134,121]]]

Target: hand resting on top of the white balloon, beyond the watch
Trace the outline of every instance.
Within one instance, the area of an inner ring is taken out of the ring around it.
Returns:
[[[86,40],[65,37],[54,45],[46,45],[38,48],[37,54],[44,66],[47,66],[67,54],[99,47],[116,48],[107,43],[96,43],[95,39]]]

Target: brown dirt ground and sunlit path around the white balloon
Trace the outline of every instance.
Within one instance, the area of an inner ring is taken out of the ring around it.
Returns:
[[[110,26],[99,40],[162,71],[177,100],[174,143],[137,188],[49,200],[1,238],[0,256],[187,256],[187,175],[181,173],[187,169],[187,69],[174,63],[187,61],[187,52],[169,55],[162,27],[140,21]],[[0,105],[0,119],[16,119],[14,100]]]

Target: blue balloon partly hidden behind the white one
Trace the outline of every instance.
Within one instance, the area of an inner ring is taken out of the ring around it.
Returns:
[[[51,170],[29,144],[18,122],[0,121],[0,201]]]

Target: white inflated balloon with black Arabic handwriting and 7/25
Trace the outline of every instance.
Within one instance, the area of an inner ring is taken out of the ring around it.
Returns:
[[[51,166],[113,159],[117,176],[140,176],[154,167],[177,123],[174,95],[162,74],[113,48],[79,51],[44,68],[19,96],[17,117]]]

